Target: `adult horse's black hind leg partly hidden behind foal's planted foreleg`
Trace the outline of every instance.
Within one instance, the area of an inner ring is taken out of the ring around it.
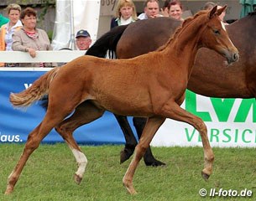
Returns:
[[[146,125],[147,118],[144,117],[133,117],[133,126],[135,127],[138,135],[138,139],[140,139],[142,132],[144,130],[144,126]],[[144,162],[146,166],[165,166],[165,162],[160,162],[155,159],[153,153],[151,152],[151,148],[147,148],[147,151],[144,154]]]

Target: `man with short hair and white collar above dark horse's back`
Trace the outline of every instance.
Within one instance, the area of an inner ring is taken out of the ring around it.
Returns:
[[[162,17],[159,14],[159,1],[158,0],[147,0],[144,3],[144,13],[138,15],[138,19],[157,18]]]

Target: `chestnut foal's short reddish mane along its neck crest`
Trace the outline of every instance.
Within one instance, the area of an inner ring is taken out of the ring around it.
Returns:
[[[163,45],[160,46],[158,49],[156,49],[156,51],[158,51],[158,52],[159,52],[159,51],[162,51],[162,50],[165,49],[167,46],[169,46],[170,42],[171,42],[173,39],[175,39],[176,35],[178,35],[178,34],[181,32],[181,30],[182,30],[183,28],[185,28],[186,26],[188,26],[188,24],[190,24],[191,21],[193,21],[193,19],[196,19],[196,18],[198,18],[198,16],[201,16],[202,14],[205,14],[205,13],[208,13],[208,12],[205,11],[205,10],[202,10],[202,11],[199,11],[198,13],[196,13],[194,16],[192,16],[192,17],[190,17],[190,18],[186,18],[186,19],[184,20],[184,22],[181,24],[181,26],[180,26],[179,28],[176,28],[175,33],[172,34],[172,36],[170,37],[170,39],[169,39],[165,44],[163,44]]]

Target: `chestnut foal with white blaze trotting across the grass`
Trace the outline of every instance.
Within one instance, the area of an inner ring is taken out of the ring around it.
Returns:
[[[101,117],[106,110],[123,116],[148,117],[133,160],[123,177],[123,185],[129,193],[136,193],[133,175],[138,162],[166,118],[187,122],[199,131],[205,161],[201,173],[203,178],[209,178],[214,155],[206,125],[180,105],[185,99],[198,49],[213,49],[228,63],[238,60],[238,49],[218,18],[225,9],[216,6],[209,12],[201,11],[194,18],[186,19],[182,28],[157,51],[133,59],[81,56],[42,75],[27,90],[12,93],[13,106],[29,106],[47,94],[49,106],[43,121],[29,133],[24,152],[8,177],[5,193],[13,192],[29,156],[54,127],[76,158],[75,181],[81,183],[87,159],[73,138],[73,131]]]

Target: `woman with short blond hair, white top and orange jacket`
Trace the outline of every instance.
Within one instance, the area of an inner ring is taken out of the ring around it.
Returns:
[[[13,33],[18,31],[22,27],[22,23],[19,20],[21,8],[18,4],[12,3],[9,4],[7,7],[9,22],[3,24],[1,27],[1,34],[0,34],[0,51],[13,51],[12,44],[13,44]],[[15,67],[18,64],[5,64],[7,67]],[[0,67],[3,67],[4,64],[0,63]]]

